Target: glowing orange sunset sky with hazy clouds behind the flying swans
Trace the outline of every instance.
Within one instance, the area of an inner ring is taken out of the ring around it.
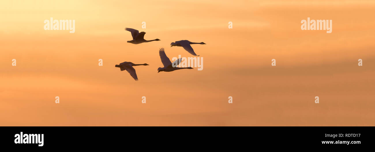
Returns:
[[[0,13],[1,126],[375,125],[372,0],[1,0]],[[51,17],[75,33],[44,30]],[[332,33],[301,30],[308,17]],[[124,28],[161,41],[127,43]],[[192,45],[203,70],[157,73],[161,47],[192,56],[179,40],[206,43]],[[134,81],[124,61],[149,65]]]

